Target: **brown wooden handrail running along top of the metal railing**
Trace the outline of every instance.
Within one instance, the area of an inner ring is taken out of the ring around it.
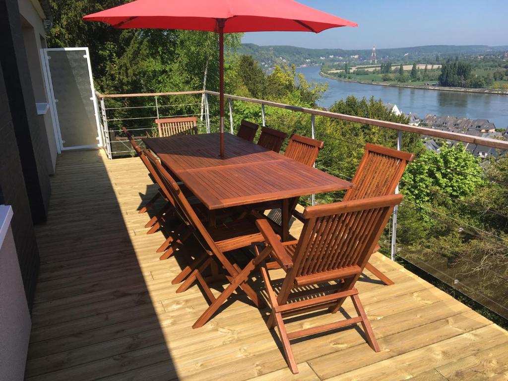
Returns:
[[[218,92],[210,91],[210,90],[151,92],[151,93],[141,93],[141,94],[101,94],[99,91],[96,91],[98,98],[171,96],[171,95],[203,94],[203,93],[210,94],[213,96],[219,95]],[[278,107],[281,109],[302,112],[302,113],[306,113],[306,114],[325,116],[325,117],[332,118],[332,119],[341,119],[341,120],[347,120],[347,121],[355,122],[355,123],[376,125],[379,127],[384,127],[384,128],[388,128],[388,129],[392,129],[392,130],[397,130],[397,131],[405,131],[405,132],[411,132],[411,133],[420,134],[420,135],[428,135],[428,136],[432,136],[432,137],[436,137],[436,138],[456,140],[458,142],[463,142],[463,143],[481,144],[486,147],[493,147],[493,148],[504,149],[504,150],[508,151],[508,141],[503,141],[503,140],[482,138],[482,137],[478,137],[478,136],[459,134],[459,133],[455,133],[455,132],[439,131],[439,130],[429,129],[426,127],[417,127],[417,126],[413,126],[413,125],[389,122],[389,121],[385,121],[385,120],[377,120],[377,119],[371,119],[371,118],[364,118],[361,116],[339,114],[336,112],[330,112],[330,111],[326,111],[326,110],[310,109],[307,107],[287,105],[284,103],[265,101],[265,100],[261,100],[261,99],[239,97],[239,96],[234,96],[231,94],[224,94],[224,97],[228,98],[228,99],[237,100],[237,101],[258,103],[260,105]]]

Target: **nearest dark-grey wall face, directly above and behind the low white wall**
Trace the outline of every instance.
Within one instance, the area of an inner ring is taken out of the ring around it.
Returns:
[[[31,309],[39,271],[39,250],[1,65],[0,136],[2,137],[2,149],[0,149],[0,204],[11,205],[14,211],[11,221],[12,233],[18,253],[26,300]]]

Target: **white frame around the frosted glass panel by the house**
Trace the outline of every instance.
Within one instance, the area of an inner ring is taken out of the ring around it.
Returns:
[[[55,119],[55,122],[53,123],[53,130],[55,131],[55,138],[57,140],[58,153],[60,153],[61,151],[71,150],[71,149],[103,147],[104,142],[102,139],[101,125],[99,122],[99,109],[97,107],[95,87],[93,86],[92,69],[91,69],[91,63],[90,63],[90,53],[89,53],[88,48],[87,47],[82,47],[82,48],[44,48],[41,50],[44,51],[44,63],[45,63],[44,66],[45,66],[45,71],[46,71],[45,75],[47,75],[47,77],[48,77],[47,79],[49,82],[49,87],[48,87],[49,98],[48,98],[48,100],[51,101],[50,102],[51,110],[52,110],[52,113],[54,114],[54,119]],[[82,145],[82,146],[75,146],[75,147],[64,147],[63,146],[63,141],[62,141],[62,137],[61,137],[61,130],[60,130],[60,123],[58,121],[58,111],[56,109],[56,100],[55,100],[55,95],[54,95],[54,91],[53,91],[53,82],[51,80],[51,70],[49,68],[50,57],[48,56],[48,52],[51,52],[51,51],[72,51],[72,50],[83,50],[85,53],[83,55],[83,58],[86,58],[86,63],[88,66],[88,76],[90,79],[90,90],[91,90],[90,101],[93,103],[93,111],[94,111],[94,116],[96,119],[96,127],[97,127],[97,140],[99,141],[99,143],[97,145],[89,144],[89,145]]]

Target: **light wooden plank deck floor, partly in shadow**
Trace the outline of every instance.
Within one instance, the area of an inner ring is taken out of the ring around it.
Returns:
[[[158,261],[162,233],[146,235],[142,200],[155,192],[138,158],[65,152],[52,178],[47,224],[37,227],[41,270],[33,308],[29,380],[481,380],[508,379],[508,333],[431,284],[376,254],[396,283],[357,283],[382,351],[360,329],[293,344],[292,375],[277,335],[238,295],[203,328],[198,287],[175,294],[185,250]],[[298,231],[295,223],[293,233]],[[262,288],[259,279],[255,287]],[[350,302],[344,304],[353,313]],[[291,328],[340,314],[293,319]]]

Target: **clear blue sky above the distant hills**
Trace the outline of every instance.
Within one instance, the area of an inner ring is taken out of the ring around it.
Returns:
[[[358,23],[320,34],[246,33],[243,43],[372,49],[422,45],[508,45],[508,0],[299,0]]]

